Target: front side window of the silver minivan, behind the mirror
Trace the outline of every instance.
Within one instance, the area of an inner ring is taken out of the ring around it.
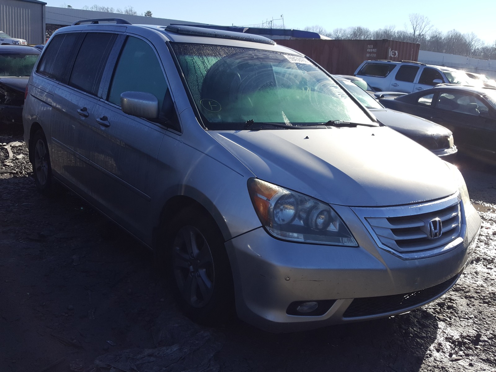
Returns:
[[[153,94],[160,109],[167,91],[164,73],[152,47],[132,36],[127,38],[119,57],[108,101],[121,105],[121,93],[127,91]]]

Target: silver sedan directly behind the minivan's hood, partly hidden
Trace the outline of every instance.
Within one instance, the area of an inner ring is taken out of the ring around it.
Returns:
[[[348,90],[362,105],[384,125],[406,135],[431,150],[444,160],[451,160],[457,149],[449,129],[429,120],[386,109],[365,90],[350,80],[334,75],[343,88]]]

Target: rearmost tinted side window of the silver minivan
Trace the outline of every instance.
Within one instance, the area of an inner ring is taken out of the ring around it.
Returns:
[[[38,73],[61,81],[65,65],[79,35],[79,32],[55,35],[45,47],[45,53],[38,63]]]

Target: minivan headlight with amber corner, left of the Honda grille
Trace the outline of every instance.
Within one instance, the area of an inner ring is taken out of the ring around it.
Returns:
[[[256,178],[248,180],[248,191],[270,235],[301,243],[358,247],[350,230],[328,204]]]

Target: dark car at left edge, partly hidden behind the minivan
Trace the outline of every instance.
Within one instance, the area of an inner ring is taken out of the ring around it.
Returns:
[[[36,48],[0,45],[0,124],[22,125],[24,92],[39,55]]]

